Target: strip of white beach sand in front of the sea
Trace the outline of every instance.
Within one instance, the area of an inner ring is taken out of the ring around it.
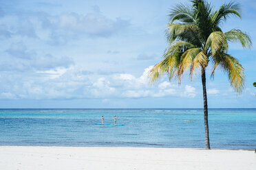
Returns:
[[[0,147],[0,169],[256,169],[246,150],[136,147]]]

